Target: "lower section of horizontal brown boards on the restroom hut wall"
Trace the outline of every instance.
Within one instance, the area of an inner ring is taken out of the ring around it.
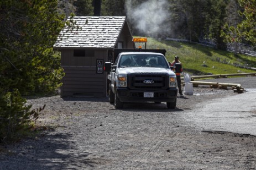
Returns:
[[[96,74],[96,67],[63,67],[61,96],[107,96],[106,73]]]

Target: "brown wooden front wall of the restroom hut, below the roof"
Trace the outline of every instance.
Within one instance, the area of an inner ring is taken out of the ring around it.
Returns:
[[[74,50],[61,51],[61,96],[107,96],[107,75],[96,73],[96,60],[107,61],[107,50],[95,50],[94,57],[74,57]]]

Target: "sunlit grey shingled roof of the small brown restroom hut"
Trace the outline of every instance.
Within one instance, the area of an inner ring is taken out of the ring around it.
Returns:
[[[75,27],[61,30],[55,49],[114,48],[126,17],[74,17]]]

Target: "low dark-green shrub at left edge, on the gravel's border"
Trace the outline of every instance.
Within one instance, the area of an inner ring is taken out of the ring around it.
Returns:
[[[15,141],[28,133],[44,107],[31,109],[17,89],[0,90],[0,142]]]

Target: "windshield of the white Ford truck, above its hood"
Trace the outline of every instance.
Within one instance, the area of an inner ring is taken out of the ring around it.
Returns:
[[[125,54],[120,56],[119,67],[169,68],[164,56],[155,54]]]

